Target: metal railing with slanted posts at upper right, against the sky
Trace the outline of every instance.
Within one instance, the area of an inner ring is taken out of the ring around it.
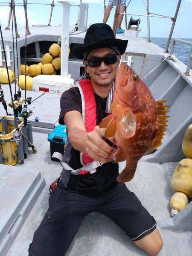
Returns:
[[[129,0],[128,5],[130,4],[130,2],[131,2],[131,0]],[[175,27],[175,22],[177,20],[177,15],[178,15],[178,12],[179,12],[181,0],[178,0],[177,8],[176,8],[175,16],[174,17],[170,17],[170,16],[166,16],[166,15],[160,15],[160,14],[156,14],[156,13],[150,12],[150,10],[149,10],[149,0],[147,0],[147,4],[145,3],[145,0],[143,0],[143,2],[145,4],[145,9],[147,11],[147,15],[143,15],[143,14],[142,15],[141,14],[130,14],[130,13],[128,13],[127,12],[128,5],[125,6],[124,13],[123,12],[119,12],[121,0],[116,0],[115,15],[114,15],[114,20],[113,20],[113,32],[116,35],[116,28],[117,28],[117,21],[118,21],[119,14],[125,15],[125,27],[126,27],[126,29],[127,29],[127,18],[126,18],[127,15],[144,16],[144,17],[147,17],[147,38],[148,38],[147,41],[151,42],[151,40],[150,40],[150,20],[149,20],[150,17],[170,18],[171,21],[172,21],[172,27],[171,27],[171,30],[170,30],[170,33],[169,33],[169,38],[168,38],[166,49],[165,49],[165,52],[168,52],[168,48],[169,48],[169,44],[170,44],[170,41],[171,41],[171,38],[172,38],[173,30],[174,30],[174,27]],[[105,7],[106,6],[105,6],[105,0],[104,0],[104,9],[105,9]]]

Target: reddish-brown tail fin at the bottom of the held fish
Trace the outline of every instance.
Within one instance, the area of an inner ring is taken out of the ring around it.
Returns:
[[[125,166],[125,169],[119,174],[117,177],[118,182],[128,182],[133,179],[135,171],[137,169],[137,163],[131,164],[131,166],[128,164],[128,160]]]

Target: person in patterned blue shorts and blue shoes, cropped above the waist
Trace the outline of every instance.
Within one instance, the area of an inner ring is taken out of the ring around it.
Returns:
[[[108,6],[105,8],[103,23],[107,23],[111,10],[113,9],[113,6],[116,6],[116,0],[109,0]],[[125,8],[126,8],[126,0],[121,0],[119,12],[124,13]],[[125,32],[125,29],[121,28],[123,16],[124,16],[123,14],[119,14],[117,28],[116,28],[117,34],[122,34]]]

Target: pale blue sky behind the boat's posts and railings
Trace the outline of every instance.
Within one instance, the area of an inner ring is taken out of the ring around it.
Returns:
[[[146,15],[145,4],[147,0],[131,0],[128,6],[129,14],[137,14],[138,16],[132,16],[134,19],[140,17],[140,15]],[[0,0],[0,22],[2,28],[5,28],[8,23],[9,17],[9,6],[4,4],[10,2],[10,0]],[[23,0],[15,0],[15,3],[22,3]],[[79,0],[69,1],[73,5],[79,4]],[[104,1],[103,0],[82,0],[83,3],[89,4],[88,12],[88,24],[103,22],[104,13]],[[127,0],[128,4],[129,0]],[[150,0],[150,12],[174,17],[175,10],[177,8],[178,0]],[[51,4],[52,0],[27,0],[27,15],[29,26],[35,24],[48,24],[51,6],[43,5],[30,5],[29,3],[47,3]],[[108,3],[108,0],[106,0]],[[55,1],[55,7],[53,8],[52,14],[52,26],[58,26],[61,24],[61,6]],[[6,6],[1,6],[6,5]],[[23,6],[17,6],[16,8],[16,19],[18,29],[25,26],[25,16]],[[70,8],[70,25],[77,22],[78,6],[72,6]],[[128,15],[128,20],[131,16]],[[111,11],[111,15],[108,20],[108,24],[113,26],[114,9]],[[164,37],[169,36],[169,32],[172,26],[170,18],[150,18],[150,36],[151,37]],[[122,22],[122,28],[125,29],[125,18]],[[147,37],[147,17],[141,16],[140,23],[141,32],[140,37]],[[172,37],[175,38],[192,38],[192,0],[182,0],[180,5],[180,11],[177,16],[175,29]]]

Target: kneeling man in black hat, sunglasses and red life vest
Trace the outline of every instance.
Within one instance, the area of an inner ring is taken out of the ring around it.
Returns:
[[[111,218],[150,255],[157,255],[163,245],[154,218],[125,183],[116,181],[118,163],[112,162],[116,149],[103,140],[105,129],[98,126],[108,115],[116,71],[127,43],[116,39],[110,26],[97,23],[87,30],[84,45],[72,49],[76,58],[83,59],[87,75],[78,87],[61,96],[59,122],[67,126],[68,138],[64,169],[34,233],[30,256],[64,256],[90,212]],[[99,166],[100,162],[104,164]],[[90,164],[96,164],[95,168],[90,169]]]

